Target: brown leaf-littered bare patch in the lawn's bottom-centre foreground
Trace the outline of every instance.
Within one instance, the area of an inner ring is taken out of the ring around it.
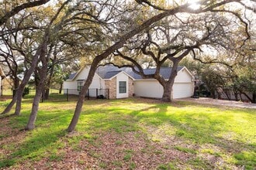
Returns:
[[[94,140],[82,140],[75,148],[67,145],[58,153],[59,161],[43,158],[39,162],[23,162],[17,169],[156,169],[177,159],[186,162],[192,156],[150,141],[145,134],[113,131],[99,134]]]

